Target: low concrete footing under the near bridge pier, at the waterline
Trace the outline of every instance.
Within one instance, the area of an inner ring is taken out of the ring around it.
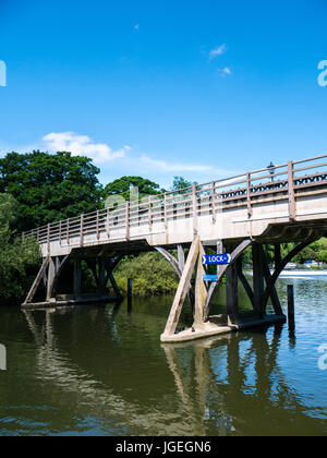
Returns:
[[[201,326],[184,329],[173,335],[167,335],[164,333],[160,336],[160,341],[165,343],[183,342],[187,340],[218,336],[219,334],[234,333],[250,327],[269,326],[278,323],[283,324],[286,321],[287,318],[284,315],[267,315],[265,318],[251,318],[227,326],[219,326],[208,321],[207,323],[203,323]]]

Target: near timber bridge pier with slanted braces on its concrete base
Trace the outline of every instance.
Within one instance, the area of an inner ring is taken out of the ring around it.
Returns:
[[[218,243],[218,246],[220,250],[222,249],[221,242]],[[252,246],[253,254],[253,289],[243,273],[242,265],[243,252],[249,246]],[[205,250],[199,238],[194,238],[166,329],[160,337],[162,342],[194,340],[247,327],[286,322],[263,244],[245,240],[239,245],[230,244],[226,248],[232,252],[232,263],[227,266],[220,266],[218,268],[218,281],[207,288],[204,281],[205,267],[202,264],[202,255],[205,254]],[[191,328],[177,332],[193,273],[195,275],[194,323]],[[223,275],[226,275],[227,279],[227,311],[225,315],[210,316],[211,298]],[[239,281],[242,282],[253,306],[253,310],[246,313],[240,313],[239,310]],[[269,297],[271,298],[275,314],[267,315],[266,305]]]

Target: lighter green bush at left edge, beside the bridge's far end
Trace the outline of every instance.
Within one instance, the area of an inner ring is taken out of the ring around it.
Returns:
[[[16,202],[11,195],[0,194],[0,305],[17,304],[35,277],[33,267],[40,261],[33,239],[14,238]]]

